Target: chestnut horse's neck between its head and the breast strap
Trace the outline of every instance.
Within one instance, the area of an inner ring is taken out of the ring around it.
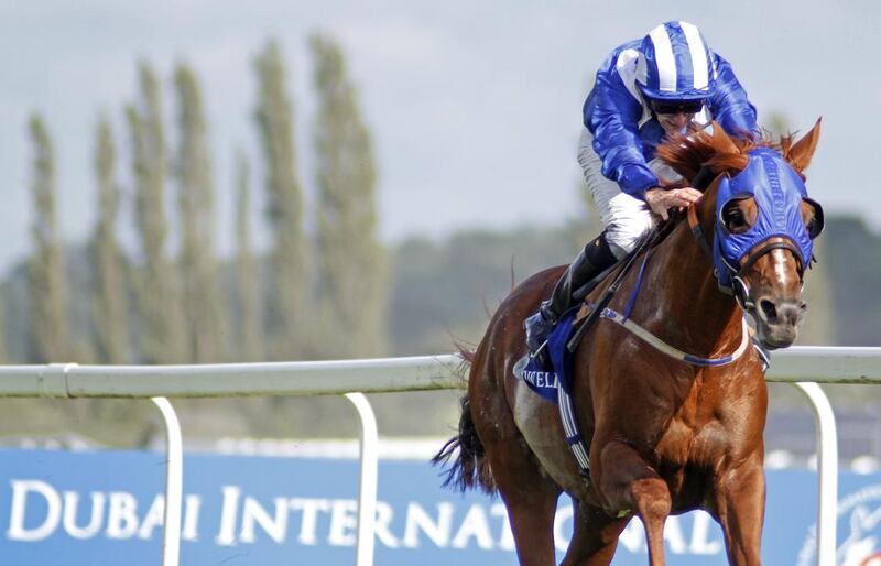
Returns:
[[[657,336],[697,356],[729,353],[740,336],[740,309],[718,289],[711,260],[686,222],[653,252],[642,313],[635,313]]]

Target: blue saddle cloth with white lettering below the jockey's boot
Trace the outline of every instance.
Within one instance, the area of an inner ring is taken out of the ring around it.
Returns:
[[[545,350],[551,367],[545,367],[540,360],[527,356],[524,358],[525,367],[519,372],[515,371],[530,389],[554,404],[557,404],[557,388],[563,387],[566,393],[572,392],[573,353],[566,345],[575,334],[573,322],[580,307],[581,305],[578,305],[566,311],[547,337]]]

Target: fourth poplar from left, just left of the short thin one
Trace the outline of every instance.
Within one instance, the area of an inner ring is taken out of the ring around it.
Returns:
[[[181,221],[180,274],[187,358],[222,361],[227,352],[226,304],[220,298],[214,253],[214,182],[208,129],[195,74],[178,64],[174,75],[180,130],[176,177]]]

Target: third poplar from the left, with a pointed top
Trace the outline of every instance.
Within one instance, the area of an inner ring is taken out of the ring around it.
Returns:
[[[127,108],[134,173],[134,221],[141,266],[135,275],[139,350],[145,363],[184,361],[183,316],[165,211],[167,152],[162,96],[155,72],[140,65],[140,105]]]

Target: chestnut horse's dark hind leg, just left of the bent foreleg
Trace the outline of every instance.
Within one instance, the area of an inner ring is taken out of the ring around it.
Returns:
[[[587,503],[573,504],[575,534],[561,566],[608,566],[630,515],[619,519]]]

